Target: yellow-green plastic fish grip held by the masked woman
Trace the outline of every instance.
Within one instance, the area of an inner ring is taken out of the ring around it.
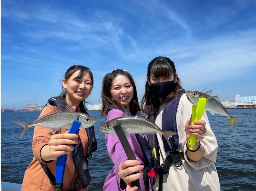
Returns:
[[[195,121],[201,120],[201,118],[204,114],[206,100],[207,100],[206,98],[199,98],[197,105],[192,106],[191,125],[193,125]],[[189,149],[193,150],[193,146],[195,144],[196,144],[196,135],[189,135],[189,137],[188,137]]]

